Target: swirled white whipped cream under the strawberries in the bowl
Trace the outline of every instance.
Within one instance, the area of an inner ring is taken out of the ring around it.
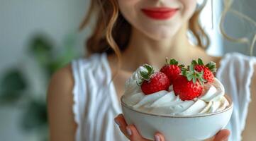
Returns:
[[[131,109],[149,114],[192,116],[222,111],[229,105],[224,97],[224,87],[216,78],[213,82],[205,84],[203,94],[193,100],[179,99],[179,96],[174,94],[172,85],[168,91],[145,95],[136,83],[142,70],[145,71],[145,68],[138,68],[126,81],[123,102]]]

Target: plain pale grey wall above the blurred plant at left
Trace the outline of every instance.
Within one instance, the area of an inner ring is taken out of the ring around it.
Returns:
[[[0,73],[24,56],[33,33],[45,32],[60,44],[76,32],[87,5],[87,0],[1,0]]]

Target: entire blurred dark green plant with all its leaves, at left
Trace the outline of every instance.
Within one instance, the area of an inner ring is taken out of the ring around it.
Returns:
[[[32,56],[40,67],[40,72],[50,80],[52,73],[65,66],[77,56],[74,50],[74,36],[65,39],[62,51],[57,51],[57,46],[43,34],[33,36],[28,45],[28,55]],[[58,53],[57,53],[58,52]],[[0,79],[0,104],[17,104],[22,99],[25,107],[21,128],[28,132],[38,132],[42,140],[48,140],[48,119],[45,99],[33,97],[32,85],[28,85],[28,78],[23,75],[22,68],[9,68]],[[39,73],[39,72],[34,72]],[[31,76],[27,76],[31,77]],[[47,87],[44,86],[45,92]],[[45,94],[40,92],[40,94]],[[24,102],[25,99],[25,102]]]

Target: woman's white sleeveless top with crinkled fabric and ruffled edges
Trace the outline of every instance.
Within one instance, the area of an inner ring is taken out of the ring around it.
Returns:
[[[223,56],[216,77],[234,102],[234,111],[227,127],[230,140],[240,141],[245,128],[250,102],[250,82],[255,57],[238,53]],[[88,59],[72,61],[74,76],[74,120],[77,123],[76,141],[127,140],[113,119],[121,114],[106,54],[94,54]]]

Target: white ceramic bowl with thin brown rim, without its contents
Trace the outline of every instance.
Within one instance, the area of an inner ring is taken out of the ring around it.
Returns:
[[[140,135],[153,140],[156,132],[165,136],[166,141],[206,140],[225,128],[233,111],[233,102],[227,95],[230,105],[223,111],[197,116],[164,116],[147,114],[130,109],[123,103],[123,115],[128,125],[133,124]]]

